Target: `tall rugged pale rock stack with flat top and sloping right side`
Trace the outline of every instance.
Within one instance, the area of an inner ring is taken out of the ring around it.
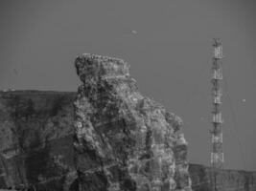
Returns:
[[[142,96],[121,59],[85,53],[76,68],[80,190],[191,190],[181,119]]]

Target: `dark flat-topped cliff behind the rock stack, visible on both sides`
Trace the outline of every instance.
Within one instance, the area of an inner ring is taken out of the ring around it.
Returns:
[[[73,182],[77,179],[73,155],[73,101],[75,97],[76,93],[0,92],[0,190],[12,186],[16,188],[30,186],[48,190],[69,190],[69,188],[76,187],[76,183]],[[26,112],[29,108],[34,108],[31,115]],[[16,117],[13,115],[15,110]],[[21,120],[21,115],[24,116],[23,120]],[[37,118],[41,118],[40,121],[50,122],[40,124],[36,122]],[[18,125],[18,121],[22,123]],[[13,131],[15,128],[18,132]],[[43,138],[43,134],[40,134],[43,129],[48,129],[49,138],[46,136]],[[52,131],[53,129],[56,131]],[[22,131],[23,136],[20,134]],[[35,137],[36,134],[41,138]],[[61,134],[61,138],[58,138]],[[15,143],[22,144],[19,139],[26,139],[26,144],[29,144],[28,142],[33,142],[31,141],[33,138],[35,142],[47,141],[37,146],[31,143],[32,147],[37,148],[36,152],[14,152],[15,147],[18,147]],[[47,171],[41,170],[45,166],[48,166]],[[70,170],[67,170],[67,167]],[[194,191],[210,190],[210,169],[208,167],[190,164],[189,172]],[[225,176],[225,186],[229,187],[228,190],[256,190],[256,173],[236,170],[224,170],[222,173]]]

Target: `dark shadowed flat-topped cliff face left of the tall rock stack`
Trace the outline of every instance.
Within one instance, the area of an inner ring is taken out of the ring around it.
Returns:
[[[64,190],[73,165],[74,93],[0,93],[0,188]]]

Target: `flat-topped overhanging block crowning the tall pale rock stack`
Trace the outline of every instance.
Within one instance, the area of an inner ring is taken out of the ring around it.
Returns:
[[[129,75],[129,65],[126,61],[93,53],[83,53],[78,56],[75,65],[81,81],[98,77],[125,77]]]

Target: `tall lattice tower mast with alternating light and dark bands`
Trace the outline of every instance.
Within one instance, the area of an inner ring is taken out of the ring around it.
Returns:
[[[221,58],[222,58],[222,45],[219,38],[214,39],[214,56],[213,56],[213,68],[212,68],[212,96],[213,96],[213,129],[212,135],[212,153],[211,153],[211,164],[213,170],[212,182],[213,190],[217,191],[217,175],[219,170],[223,167],[224,156],[222,149],[222,130],[221,124],[223,122],[221,117]]]

